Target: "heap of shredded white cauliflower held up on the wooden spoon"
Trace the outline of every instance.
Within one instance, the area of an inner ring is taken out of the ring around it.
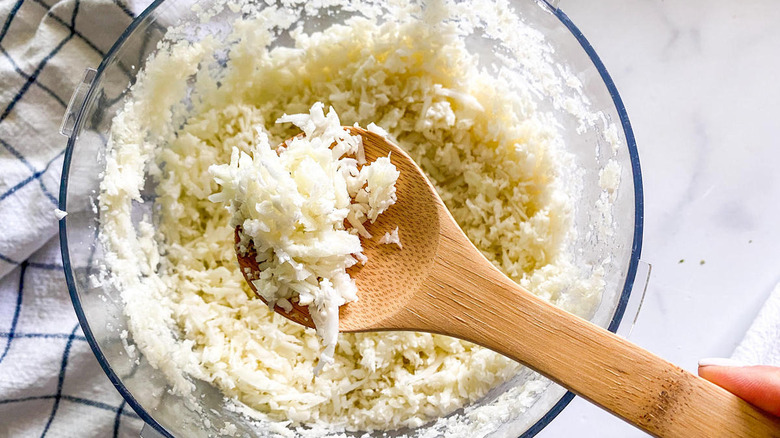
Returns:
[[[357,300],[347,274],[366,261],[357,233],[366,235],[362,224],[395,203],[399,176],[387,157],[365,164],[350,158],[363,155],[362,137],[323,108],[317,102],[308,114],[280,117],[276,123],[292,123],[305,135],[278,149],[257,129],[251,155],[234,147],[230,164],[209,167],[221,187],[209,200],[228,203],[230,226],[241,227],[241,251],[252,245],[257,252],[257,293],[271,308],[289,311],[292,300],[308,306],[325,346],[315,374],[333,363],[339,307]],[[358,228],[346,228],[347,218]]]

